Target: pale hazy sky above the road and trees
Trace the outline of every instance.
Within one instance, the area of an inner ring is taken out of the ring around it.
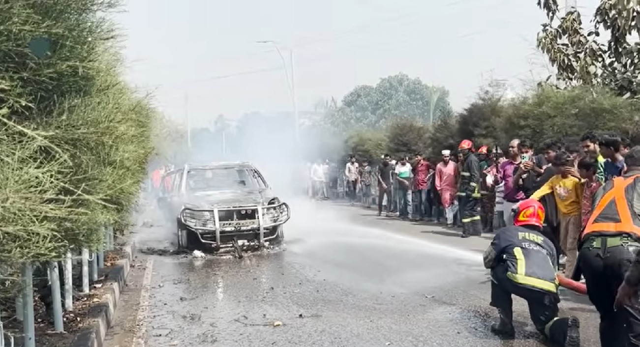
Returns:
[[[596,1],[578,1],[583,15]],[[282,60],[259,40],[280,42],[287,68],[294,47],[300,110],[398,72],[444,86],[461,109],[492,77],[516,89],[546,77],[544,20],[536,0],[129,0],[118,15],[129,81],[172,118],[188,104],[199,125],[291,110]]]

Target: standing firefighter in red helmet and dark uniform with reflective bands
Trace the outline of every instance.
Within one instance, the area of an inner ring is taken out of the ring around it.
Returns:
[[[460,185],[458,186],[458,196],[461,197],[463,208],[461,215],[462,235],[461,237],[482,235],[482,222],[480,220],[480,162],[476,155],[472,153],[474,143],[470,140],[463,140],[458,146],[458,151],[462,154],[462,169],[460,170]]]

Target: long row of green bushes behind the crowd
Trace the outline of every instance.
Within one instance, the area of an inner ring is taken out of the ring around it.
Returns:
[[[348,141],[360,147],[346,148],[351,153],[366,152],[375,157],[385,152],[404,155],[415,151],[438,157],[442,150],[456,150],[462,139],[471,139],[476,148],[496,144],[505,148],[514,138],[530,139],[535,145],[551,138],[575,141],[588,130],[616,132],[640,143],[639,102],[604,88],[559,90],[544,86],[527,95],[505,99],[499,88],[490,85],[482,88],[463,111],[442,116],[431,126],[419,120],[396,118],[386,128],[385,145],[379,130],[360,131]]]

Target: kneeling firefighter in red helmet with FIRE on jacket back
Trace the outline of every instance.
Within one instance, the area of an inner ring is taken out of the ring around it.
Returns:
[[[484,267],[491,269],[491,305],[500,312],[493,334],[514,337],[511,295],[524,298],[536,329],[553,344],[580,346],[578,318],[558,317],[556,248],[540,231],[545,209],[534,199],[518,204],[514,225],[503,227],[484,252]]]

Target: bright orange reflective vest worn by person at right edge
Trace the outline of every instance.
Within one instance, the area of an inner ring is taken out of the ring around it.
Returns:
[[[605,183],[604,194],[591,212],[581,240],[588,236],[616,236],[628,234],[640,240],[640,217],[634,213],[632,199],[640,174],[616,177]]]

